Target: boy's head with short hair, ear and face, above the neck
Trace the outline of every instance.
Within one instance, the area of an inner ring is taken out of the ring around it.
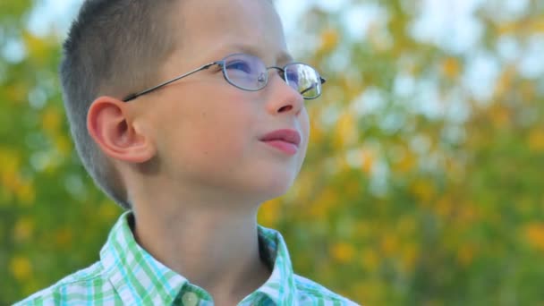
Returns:
[[[98,186],[124,208],[141,192],[241,201],[284,193],[302,166],[309,120],[276,69],[257,91],[237,88],[217,64],[123,102],[240,53],[267,67],[292,62],[268,0],[86,1],[61,76],[76,148]],[[300,136],[294,150],[265,139],[285,129]]]

